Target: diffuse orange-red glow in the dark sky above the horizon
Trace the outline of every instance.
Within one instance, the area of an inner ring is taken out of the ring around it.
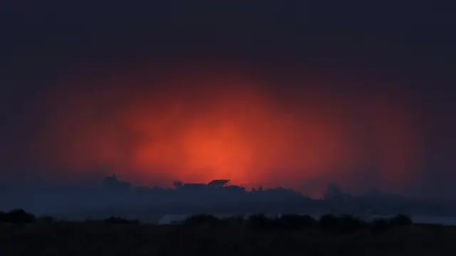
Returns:
[[[301,189],[301,181],[318,179],[353,186],[373,166],[375,186],[412,180],[420,144],[397,102],[338,97],[305,83],[312,90],[278,100],[253,75],[176,74],[101,78],[54,92],[48,127],[33,147],[38,160],[68,177],[103,169],[149,184],[229,178],[246,186]]]

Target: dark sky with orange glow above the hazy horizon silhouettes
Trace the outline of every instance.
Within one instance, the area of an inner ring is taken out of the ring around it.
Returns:
[[[0,181],[449,197],[450,2],[4,1]]]

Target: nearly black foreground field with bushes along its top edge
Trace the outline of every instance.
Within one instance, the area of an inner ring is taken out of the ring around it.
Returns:
[[[456,255],[454,227],[339,225],[330,219],[301,221],[301,228],[261,218],[180,225],[1,223],[0,255]]]

